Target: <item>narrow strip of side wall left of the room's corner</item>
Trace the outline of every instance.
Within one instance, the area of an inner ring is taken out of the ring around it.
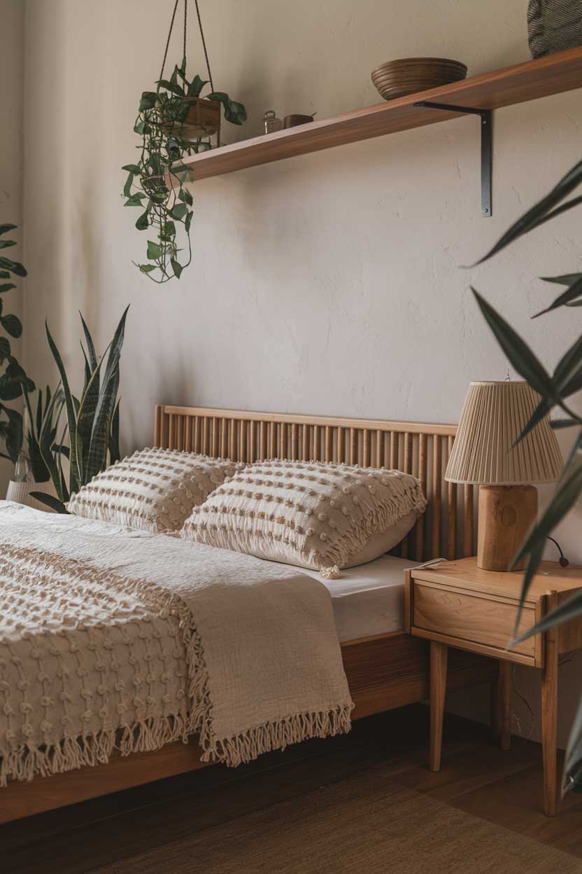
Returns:
[[[23,167],[23,76],[24,76],[24,5],[21,0],[0,0],[0,28],[3,34],[0,51],[0,225],[18,225],[10,239],[22,242],[22,167]],[[8,239],[8,238],[4,238]],[[6,252],[22,260],[22,246]],[[17,284],[20,284],[17,282]],[[22,315],[20,289],[3,295],[5,312]],[[4,333],[2,331],[2,333]],[[20,356],[19,341],[10,339],[14,355]],[[0,459],[0,498],[12,473],[10,461]]]

